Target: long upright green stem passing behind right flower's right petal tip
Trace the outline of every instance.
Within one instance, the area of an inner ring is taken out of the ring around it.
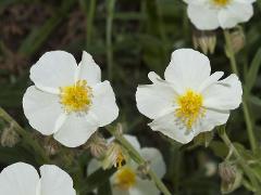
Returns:
[[[224,30],[224,37],[225,37],[225,41],[226,41],[226,55],[231,61],[232,70],[234,74],[239,76],[239,73],[237,69],[237,64],[236,64],[236,58],[235,58],[235,52],[233,50],[233,46],[232,46],[232,41],[231,41],[231,34],[228,30]],[[249,139],[249,142],[251,145],[251,150],[252,150],[252,152],[256,152],[257,151],[257,140],[254,138],[252,121],[251,121],[250,113],[249,113],[249,107],[247,105],[245,96],[243,96],[243,110],[244,110],[244,117],[245,117],[246,125],[247,125],[248,139]]]

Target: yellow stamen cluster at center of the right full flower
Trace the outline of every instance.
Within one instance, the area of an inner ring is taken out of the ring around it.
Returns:
[[[183,95],[177,98],[178,108],[176,116],[191,129],[194,122],[199,117],[204,116],[204,108],[202,107],[203,96],[200,93],[187,90]]]

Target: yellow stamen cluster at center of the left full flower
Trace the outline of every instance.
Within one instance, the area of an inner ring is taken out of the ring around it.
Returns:
[[[91,88],[86,80],[78,80],[73,86],[60,88],[60,102],[66,113],[86,112],[91,104]]]

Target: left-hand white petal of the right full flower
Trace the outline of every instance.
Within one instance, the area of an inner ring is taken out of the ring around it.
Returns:
[[[170,84],[153,83],[138,86],[136,102],[138,110],[153,119],[173,107],[176,93]]]

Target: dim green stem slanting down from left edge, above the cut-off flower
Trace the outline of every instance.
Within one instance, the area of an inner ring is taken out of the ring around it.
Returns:
[[[45,151],[40,147],[40,145],[32,139],[30,134],[25,131],[2,107],[0,107],[0,118],[5,120],[9,123],[12,123],[15,131],[23,138],[23,140],[35,150],[36,154],[39,154],[41,159],[41,164],[46,164],[50,161],[49,157],[45,154]]]

